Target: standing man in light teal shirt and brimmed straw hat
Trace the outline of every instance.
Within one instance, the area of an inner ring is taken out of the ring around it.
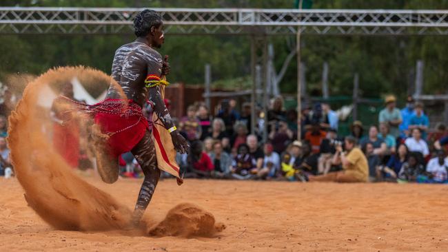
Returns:
[[[380,123],[387,123],[390,128],[390,134],[394,136],[394,138],[398,138],[400,136],[400,130],[398,126],[403,122],[403,118],[401,117],[401,112],[396,108],[396,98],[395,96],[387,96],[385,98],[386,107],[381,110],[379,116]]]

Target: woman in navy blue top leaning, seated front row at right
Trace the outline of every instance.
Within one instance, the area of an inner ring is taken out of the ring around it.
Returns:
[[[407,146],[404,143],[399,145],[397,153],[389,158],[387,164],[385,166],[378,167],[376,180],[380,181],[388,178],[396,179],[397,174],[400,173],[403,163],[407,160],[408,154],[409,150],[407,149]]]

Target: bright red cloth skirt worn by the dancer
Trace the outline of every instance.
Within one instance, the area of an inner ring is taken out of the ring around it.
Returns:
[[[140,105],[132,100],[106,99],[92,107],[94,122],[110,136],[108,145],[112,156],[130,151],[149,129]]]

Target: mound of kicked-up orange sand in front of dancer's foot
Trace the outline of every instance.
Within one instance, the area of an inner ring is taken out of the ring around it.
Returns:
[[[225,225],[216,223],[212,213],[195,204],[181,203],[171,209],[164,220],[147,233],[154,236],[213,237]]]

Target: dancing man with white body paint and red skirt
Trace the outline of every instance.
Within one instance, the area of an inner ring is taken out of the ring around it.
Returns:
[[[139,162],[145,179],[141,185],[132,221],[138,224],[149,204],[161,171],[157,167],[156,149],[151,137],[150,123],[143,116],[142,106],[149,101],[152,111],[172,137],[174,149],[186,153],[189,146],[179,134],[168,113],[160,85],[167,85],[163,76],[169,74],[167,56],[163,60],[154,48],[161,48],[165,38],[160,14],[143,10],[134,19],[137,39],[122,45],[115,52],[112,63],[112,78],[120,88],[111,85],[105,101],[92,106],[94,121],[106,134],[96,148],[98,171],[104,182],[115,182],[119,176],[118,157],[131,151]],[[123,93],[127,100],[123,100]]]

